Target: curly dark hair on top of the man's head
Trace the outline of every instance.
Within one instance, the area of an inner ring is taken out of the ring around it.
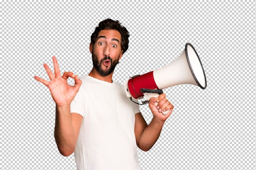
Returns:
[[[94,32],[91,35],[91,43],[94,44],[96,42],[96,39],[98,37],[98,34],[101,30],[117,30],[121,34],[121,50],[126,52],[128,49],[129,44],[129,37],[130,33],[127,31],[127,29],[121,25],[121,23],[116,20],[111,20],[110,18],[103,20],[99,23],[99,26],[97,26],[94,30]]]

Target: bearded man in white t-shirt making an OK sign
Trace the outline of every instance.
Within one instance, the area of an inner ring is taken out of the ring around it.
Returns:
[[[173,110],[165,94],[151,98],[153,119],[147,125],[139,105],[126,97],[122,85],[112,81],[115,66],[128,49],[128,37],[119,21],[104,20],[91,36],[93,68],[88,75],[79,79],[64,72],[61,76],[53,57],[54,74],[44,64],[50,81],[35,76],[56,102],[58,150],[64,156],[74,153],[78,170],[140,170],[137,146],[148,151]],[[68,77],[74,78],[74,86],[67,84]],[[167,110],[168,114],[162,114]]]

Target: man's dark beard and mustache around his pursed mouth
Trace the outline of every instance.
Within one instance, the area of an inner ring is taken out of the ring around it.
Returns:
[[[110,60],[110,65],[107,67],[105,65],[102,65],[103,61]],[[116,65],[119,63],[118,59],[112,61],[112,58],[110,56],[105,56],[101,61],[98,60],[98,57],[96,54],[92,52],[92,63],[95,70],[101,75],[101,76],[108,76],[112,72],[114,72]]]

